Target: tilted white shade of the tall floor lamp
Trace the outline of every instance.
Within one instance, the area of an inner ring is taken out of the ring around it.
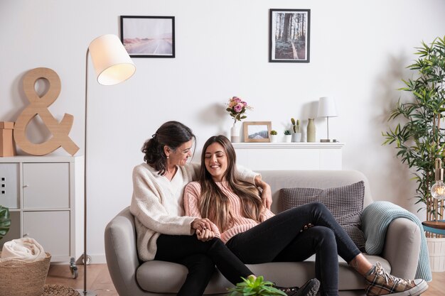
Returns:
[[[97,82],[114,85],[132,77],[136,67],[117,35],[107,34],[95,38],[88,47]]]

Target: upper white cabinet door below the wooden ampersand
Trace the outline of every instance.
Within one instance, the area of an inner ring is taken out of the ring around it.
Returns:
[[[23,163],[23,209],[68,207],[69,163]]]

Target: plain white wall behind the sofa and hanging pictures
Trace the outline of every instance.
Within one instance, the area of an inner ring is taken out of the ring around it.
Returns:
[[[311,62],[269,63],[269,9],[311,9]],[[50,67],[62,92],[50,106],[60,120],[73,114],[71,138],[83,146],[85,51],[104,33],[119,35],[119,16],[175,16],[176,58],[135,58],[127,82],[103,87],[89,80],[89,253],[103,259],[107,221],[131,199],[131,172],[141,144],[164,121],[198,135],[198,149],[226,133],[224,104],[239,96],[254,106],[250,121],[283,131],[291,117],[313,117],[319,97],[336,97],[340,116],[330,136],[345,142],[343,168],[368,176],[375,199],[415,212],[414,181],[395,149],[381,146],[390,106],[402,95],[414,47],[444,35],[445,1],[294,0],[2,0],[0,1],[0,120],[14,121],[28,101],[21,83],[35,67]],[[38,89],[44,87],[38,87]],[[404,94],[403,94],[404,95]],[[29,138],[44,141],[39,124]],[[326,137],[317,121],[317,139]],[[59,149],[57,154],[67,155]],[[77,155],[82,155],[81,149]],[[419,214],[422,216],[423,214]]]

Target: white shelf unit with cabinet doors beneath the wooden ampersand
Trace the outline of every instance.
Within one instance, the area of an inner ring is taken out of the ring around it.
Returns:
[[[83,204],[76,194],[83,191],[75,180],[82,180],[82,168],[80,157],[0,158],[0,204],[11,214],[11,228],[0,248],[6,241],[28,236],[51,254],[51,262],[77,259],[82,253]]]

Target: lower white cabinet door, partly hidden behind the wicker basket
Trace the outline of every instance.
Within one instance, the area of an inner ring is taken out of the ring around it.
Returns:
[[[53,261],[69,258],[70,212],[23,212],[23,236],[38,241],[53,256]]]

